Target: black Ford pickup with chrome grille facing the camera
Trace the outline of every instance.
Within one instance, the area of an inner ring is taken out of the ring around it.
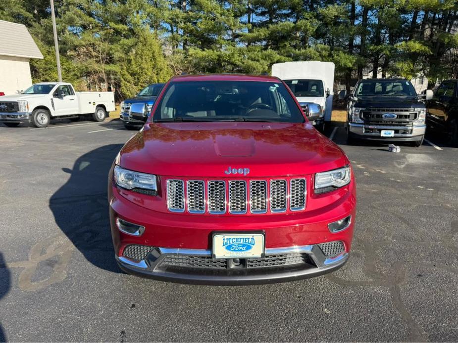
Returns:
[[[426,130],[425,100],[432,91],[418,95],[410,81],[402,79],[359,80],[348,99],[347,133],[355,139],[408,141],[421,146]]]

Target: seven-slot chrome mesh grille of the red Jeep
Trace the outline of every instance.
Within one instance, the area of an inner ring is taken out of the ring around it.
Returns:
[[[305,178],[270,180],[167,179],[167,208],[191,214],[265,214],[304,211]]]

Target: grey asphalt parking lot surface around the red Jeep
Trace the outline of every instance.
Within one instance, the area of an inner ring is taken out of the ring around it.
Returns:
[[[193,286],[121,273],[106,182],[119,121],[0,127],[0,341],[457,341],[458,149],[346,145],[357,219],[333,274]],[[434,145],[432,145],[434,144]]]

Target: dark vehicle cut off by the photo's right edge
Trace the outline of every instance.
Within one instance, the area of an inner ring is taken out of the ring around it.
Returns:
[[[443,81],[428,101],[426,122],[447,138],[447,143],[458,147],[458,80]]]

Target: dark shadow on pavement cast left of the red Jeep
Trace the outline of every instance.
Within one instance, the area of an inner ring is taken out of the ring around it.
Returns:
[[[108,172],[122,144],[105,145],[80,156],[68,181],[50,199],[50,209],[62,232],[95,266],[120,272],[113,254],[108,217]]]

